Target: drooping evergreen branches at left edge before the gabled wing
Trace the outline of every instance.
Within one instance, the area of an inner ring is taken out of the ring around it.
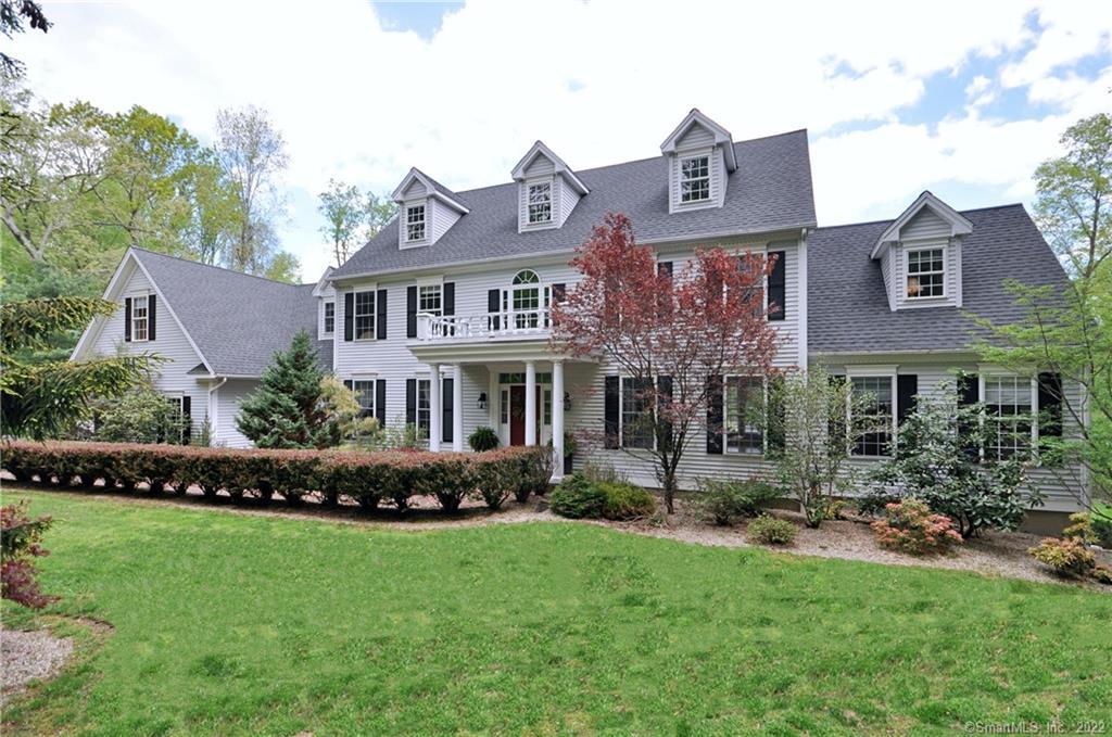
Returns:
[[[95,397],[118,397],[156,363],[148,355],[70,362],[30,362],[20,351],[47,345],[51,333],[83,326],[116,306],[99,299],[66,297],[0,306],[0,395],[3,434],[56,437],[86,417]]]

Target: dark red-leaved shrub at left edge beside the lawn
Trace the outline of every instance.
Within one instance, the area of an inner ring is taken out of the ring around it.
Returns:
[[[0,507],[0,598],[31,609],[41,609],[58,597],[39,588],[34,558],[49,555],[41,542],[51,519],[31,519],[27,502]]]

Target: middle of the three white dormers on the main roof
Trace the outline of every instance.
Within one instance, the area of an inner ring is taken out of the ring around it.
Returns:
[[[559,228],[589,191],[564,159],[540,141],[510,176],[517,182],[517,232]]]

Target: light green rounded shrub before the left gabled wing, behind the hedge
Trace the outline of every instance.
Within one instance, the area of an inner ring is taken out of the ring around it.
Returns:
[[[181,442],[186,417],[177,402],[142,382],[117,398],[92,404],[92,428],[79,428],[79,437],[102,442]]]

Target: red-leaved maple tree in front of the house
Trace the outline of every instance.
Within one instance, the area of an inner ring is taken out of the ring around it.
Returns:
[[[773,372],[780,340],[766,318],[778,308],[764,297],[773,260],[699,248],[669,273],[636,242],[629,218],[612,212],[570,263],[583,278],[553,306],[552,348],[602,360],[632,387],[642,411],[625,434],[641,441],[622,446],[653,461],[672,512],[681,459],[721,401],[722,376]]]

